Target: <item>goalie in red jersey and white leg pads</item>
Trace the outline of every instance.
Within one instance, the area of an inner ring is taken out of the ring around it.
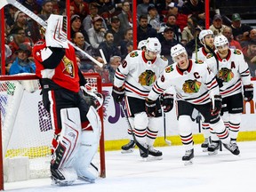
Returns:
[[[103,98],[84,87],[86,80],[77,67],[74,47],[67,41],[66,18],[52,14],[47,24],[45,37],[35,44],[33,56],[44,108],[51,114],[54,129],[52,183],[71,185],[77,179],[94,182],[98,175],[89,167],[99,145],[97,109]]]

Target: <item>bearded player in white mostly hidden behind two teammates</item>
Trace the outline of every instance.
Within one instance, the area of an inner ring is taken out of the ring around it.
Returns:
[[[203,47],[200,47],[197,52],[193,52],[192,59],[194,60],[206,60],[208,57],[212,57],[214,53],[214,36],[212,30],[204,29],[199,34],[199,40]],[[210,142],[210,124],[202,120],[202,132],[204,134],[204,142],[201,145],[203,151],[207,151],[209,142]]]

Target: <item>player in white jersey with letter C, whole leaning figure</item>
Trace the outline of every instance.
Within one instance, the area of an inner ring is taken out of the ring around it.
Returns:
[[[159,77],[146,99],[148,116],[156,113],[156,100],[159,95],[170,86],[174,86],[177,100],[177,116],[179,122],[180,139],[186,148],[182,160],[190,163],[194,157],[194,142],[192,137],[192,112],[196,108],[205,122],[210,123],[212,129],[232,154],[238,155],[236,146],[230,142],[219,113],[221,109],[221,96],[219,86],[210,68],[200,60],[188,60],[185,48],[177,44],[171,49],[172,66],[164,70],[164,75]]]

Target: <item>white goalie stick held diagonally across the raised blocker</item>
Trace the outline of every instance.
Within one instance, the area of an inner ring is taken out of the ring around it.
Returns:
[[[1,0],[0,1],[0,10],[6,5],[6,4],[12,4],[13,6],[15,6],[17,9],[19,9],[21,12],[24,12],[25,14],[27,14],[32,20],[35,20],[39,25],[41,25],[43,28],[47,28],[47,23],[42,20],[38,15],[36,15],[34,12],[31,12],[30,10],[28,10],[27,7],[23,6],[22,4],[20,4],[19,2],[15,1],[15,0]],[[100,63],[98,60],[95,60],[91,55],[89,55],[87,52],[84,52],[84,50],[80,49],[79,47],[76,46],[76,44],[73,44],[72,42],[70,42],[68,40],[68,44],[71,44],[77,51],[84,53],[84,55],[89,58],[90,60],[92,60],[92,62],[96,63],[98,66],[100,66],[100,68],[103,67],[103,64]]]

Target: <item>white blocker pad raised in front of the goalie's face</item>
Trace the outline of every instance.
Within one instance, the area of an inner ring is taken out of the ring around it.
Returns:
[[[45,31],[46,46],[68,48],[67,17],[51,14]]]

